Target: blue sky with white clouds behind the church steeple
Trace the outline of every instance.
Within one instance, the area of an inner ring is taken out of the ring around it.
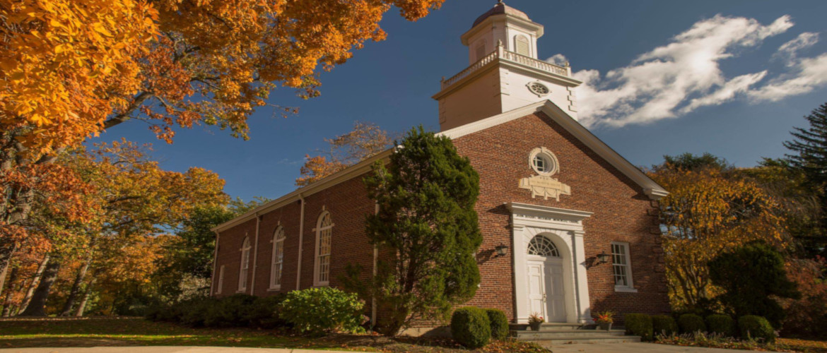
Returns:
[[[304,155],[323,148],[323,138],[350,131],[354,121],[437,131],[430,97],[442,76],[467,66],[459,37],[494,3],[447,0],[418,22],[391,10],[382,21],[388,39],[367,43],[323,74],[321,97],[302,101],[276,90],[270,103],[298,106],[299,114],[256,112],[250,141],[196,126],[178,130],[167,145],[141,122],[95,141],[151,142],[165,169],[203,167],[226,179],[233,197],[279,197],[294,189]],[[791,128],[827,102],[823,0],[506,3],[545,26],[539,58],[565,55],[586,81],[578,92],[581,110],[591,109],[584,122],[635,165],[710,152],[752,166],[782,156]]]

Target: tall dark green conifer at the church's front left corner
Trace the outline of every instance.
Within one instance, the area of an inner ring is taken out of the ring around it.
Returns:
[[[377,298],[380,329],[390,335],[416,320],[447,319],[476,293],[482,242],[474,210],[480,176],[451,139],[419,126],[395,145],[390,163],[377,162],[364,180],[379,205],[366,226],[380,249],[379,270],[369,283],[349,281]]]

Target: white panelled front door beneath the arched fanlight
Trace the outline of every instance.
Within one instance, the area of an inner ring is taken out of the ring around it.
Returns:
[[[562,261],[531,256],[527,261],[529,313],[537,313],[546,322],[566,322],[563,293]]]

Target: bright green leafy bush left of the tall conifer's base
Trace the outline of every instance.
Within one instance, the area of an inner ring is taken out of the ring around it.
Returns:
[[[329,287],[294,290],[280,305],[281,318],[299,332],[363,332],[362,303],[356,293]]]

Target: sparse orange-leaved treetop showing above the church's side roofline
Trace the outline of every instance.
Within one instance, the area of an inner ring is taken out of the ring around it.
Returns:
[[[372,122],[354,122],[353,130],[347,134],[324,139],[327,150],[321,155],[305,155],[301,176],[296,179],[296,186],[308,186],[327,175],[336,173],[351,165],[359,163],[381,151],[387,150],[394,137]]]

